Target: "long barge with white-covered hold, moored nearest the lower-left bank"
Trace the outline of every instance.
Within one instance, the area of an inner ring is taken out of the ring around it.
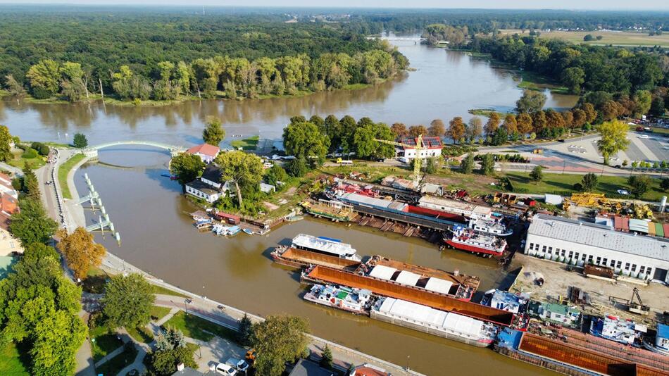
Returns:
[[[494,325],[481,320],[394,298],[379,299],[370,317],[477,347],[492,344],[497,332]]]

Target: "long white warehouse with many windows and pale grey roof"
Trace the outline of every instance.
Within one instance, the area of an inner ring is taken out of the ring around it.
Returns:
[[[534,215],[524,253],[572,265],[608,266],[622,275],[669,283],[669,241],[604,225]]]

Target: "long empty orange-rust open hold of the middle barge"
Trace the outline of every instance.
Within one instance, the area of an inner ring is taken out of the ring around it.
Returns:
[[[365,277],[364,275],[345,272],[343,270],[315,266],[303,278],[308,281],[317,281],[325,284],[338,284],[358,289],[368,289],[377,295],[411,301],[423,304],[423,306],[454,312],[500,325],[509,326],[513,322],[513,313],[507,311],[482,306],[469,301],[461,301],[445,294],[430,292],[418,287],[407,286],[392,281],[377,280],[376,278]]]

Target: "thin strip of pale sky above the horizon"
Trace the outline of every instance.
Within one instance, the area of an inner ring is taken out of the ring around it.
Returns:
[[[0,0],[0,3],[39,4],[155,4],[209,6],[335,6],[382,8],[552,8],[599,10],[669,10],[669,1],[661,0]]]

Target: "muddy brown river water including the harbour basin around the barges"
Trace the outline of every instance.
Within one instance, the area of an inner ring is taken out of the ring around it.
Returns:
[[[21,139],[54,140],[84,132],[92,144],[139,139],[173,144],[199,142],[207,115],[224,119],[228,134],[279,137],[296,114],[351,114],[387,123],[427,124],[433,118],[467,117],[474,107],[513,106],[520,96],[513,76],[488,61],[461,52],[407,44],[401,51],[415,72],[377,87],[324,92],[292,99],[202,101],[165,107],[102,104],[37,105],[5,101],[0,123]],[[549,106],[570,106],[573,98],[551,97]],[[344,239],[362,255],[382,254],[401,261],[481,277],[480,291],[508,282],[507,270],[491,260],[458,251],[440,253],[433,244],[365,227],[346,227],[308,218],[283,225],[264,237],[240,233],[232,239],[200,234],[185,213],[194,208],[176,182],[161,177],[169,155],[135,147],[104,149],[102,163],[84,165],[77,189],[85,192],[88,173],[119,230],[121,246],[108,250],[156,277],[259,315],[290,313],[308,318],[313,333],[428,375],[551,374],[489,349],[478,349],[383,322],[316,306],[301,299],[299,276],[271,261],[276,244],[299,232]],[[127,168],[123,168],[123,166]],[[89,221],[91,218],[89,218]],[[511,269],[518,265],[512,265]]]

